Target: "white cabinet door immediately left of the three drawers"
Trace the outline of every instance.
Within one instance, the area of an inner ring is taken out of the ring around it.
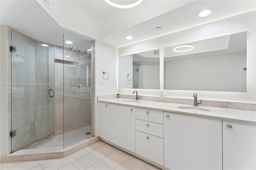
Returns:
[[[135,152],[135,107],[110,104],[110,142]]]

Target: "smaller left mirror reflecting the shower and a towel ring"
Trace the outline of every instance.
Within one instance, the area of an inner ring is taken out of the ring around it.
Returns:
[[[159,89],[159,49],[118,57],[118,88]]]

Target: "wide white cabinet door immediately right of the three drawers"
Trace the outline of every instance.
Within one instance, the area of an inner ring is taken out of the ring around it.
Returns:
[[[222,121],[164,112],[164,166],[222,169]]]

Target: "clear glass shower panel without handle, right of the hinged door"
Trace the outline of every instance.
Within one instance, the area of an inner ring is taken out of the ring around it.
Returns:
[[[92,136],[92,43],[63,36],[64,147]]]

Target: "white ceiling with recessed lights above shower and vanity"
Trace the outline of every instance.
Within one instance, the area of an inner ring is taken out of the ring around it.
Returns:
[[[254,0],[144,0],[130,9],[112,7],[104,0],[50,2],[48,10],[41,0],[0,0],[0,23],[53,45],[62,46],[64,33],[120,47],[256,8]],[[206,8],[213,8],[213,14],[196,16]],[[124,39],[127,35],[134,39]]]

